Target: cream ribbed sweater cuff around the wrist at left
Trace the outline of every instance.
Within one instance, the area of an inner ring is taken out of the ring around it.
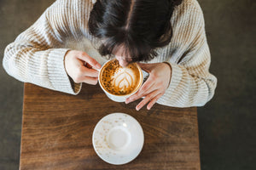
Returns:
[[[82,83],[75,83],[67,75],[64,56],[69,49],[55,48],[50,50],[49,59],[47,60],[49,82],[56,91],[67,94],[79,94]]]

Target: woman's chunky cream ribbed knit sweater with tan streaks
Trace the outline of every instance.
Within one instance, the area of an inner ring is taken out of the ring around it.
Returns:
[[[82,84],[74,83],[64,68],[67,50],[83,50],[101,64],[107,60],[96,51],[92,44],[99,41],[88,32],[92,6],[90,0],[57,0],[5,49],[4,69],[22,82],[78,94]],[[172,66],[170,85],[158,103],[175,107],[205,105],[212,99],[217,79],[209,73],[211,59],[200,5],[196,0],[183,0],[171,22],[172,41],[148,62],[168,62]]]

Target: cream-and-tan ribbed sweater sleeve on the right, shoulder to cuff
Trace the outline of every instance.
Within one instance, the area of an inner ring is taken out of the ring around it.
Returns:
[[[180,8],[187,12],[178,19],[182,22],[174,22],[174,38],[186,50],[176,62],[171,61],[171,56],[168,62],[172,67],[171,82],[158,103],[174,107],[202,106],[212,99],[217,85],[216,77],[209,72],[211,55],[203,14],[198,3],[184,3]]]

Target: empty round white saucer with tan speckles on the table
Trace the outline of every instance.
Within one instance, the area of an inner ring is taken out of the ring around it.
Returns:
[[[103,161],[125,164],[135,159],[143,149],[143,128],[132,116],[112,113],[96,124],[92,144]]]

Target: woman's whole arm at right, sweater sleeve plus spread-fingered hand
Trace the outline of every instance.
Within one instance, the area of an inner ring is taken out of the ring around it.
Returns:
[[[137,94],[126,100],[126,103],[130,103],[145,97],[137,105],[137,110],[147,103],[148,109],[155,102],[173,107],[190,107],[205,105],[212,99],[217,79],[209,73],[211,56],[203,14],[198,3],[192,2],[185,1],[172,18],[173,50],[169,60],[141,65],[149,73],[148,80]]]

